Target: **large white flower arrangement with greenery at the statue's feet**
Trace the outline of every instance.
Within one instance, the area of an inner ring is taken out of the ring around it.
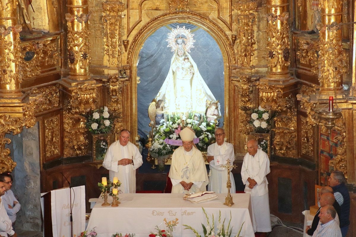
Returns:
[[[179,137],[180,131],[183,129],[182,120],[185,120],[184,126],[189,126],[195,131],[195,137],[199,138],[199,143],[195,144],[200,151],[206,151],[210,142],[215,139],[214,131],[215,124],[213,121],[207,123],[204,116],[203,121],[193,119],[194,114],[189,114],[185,120],[185,116],[180,119],[179,115],[167,115],[156,128],[153,129],[153,143],[150,152],[158,156],[169,155],[178,146],[168,145],[164,139],[181,140]]]

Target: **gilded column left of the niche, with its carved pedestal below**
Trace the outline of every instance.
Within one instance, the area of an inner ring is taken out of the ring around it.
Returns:
[[[100,86],[90,76],[90,43],[88,0],[67,0],[68,78],[62,79],[64,157],[87,155],[88,138],[84,113],[95,109]]]

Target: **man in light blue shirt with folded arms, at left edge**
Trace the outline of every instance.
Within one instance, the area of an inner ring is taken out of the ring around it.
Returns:
[[[12,226],[15,226],[16,213],[20,211],[21,205],[19,201],[15,198],[14,193],[11,190],[12,187],[12,176],[10,173],[0,174],[0,181],[5,183],[5,194],[1,197],[1,200],[4,203],[5,210],[7,215],[12,222]]]

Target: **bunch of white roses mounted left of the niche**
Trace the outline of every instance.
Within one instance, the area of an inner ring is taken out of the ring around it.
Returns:
[[[90,133],[109,133],[112,129],[114,116],[109,113],[109,109],[106,106],[95,111],[89,111],[85,117],[87,118],[86,125]]]

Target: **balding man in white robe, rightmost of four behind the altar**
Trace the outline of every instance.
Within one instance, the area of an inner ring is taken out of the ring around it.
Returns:
[[[270,172],[268,156],[266,152],[258,149],[256,140],[247,142],[247,151],[241,167],[241,178],[245,184],[245,193],[251,194],[256,231],[270,232],[271,217],[266,178],[266,175]]]

